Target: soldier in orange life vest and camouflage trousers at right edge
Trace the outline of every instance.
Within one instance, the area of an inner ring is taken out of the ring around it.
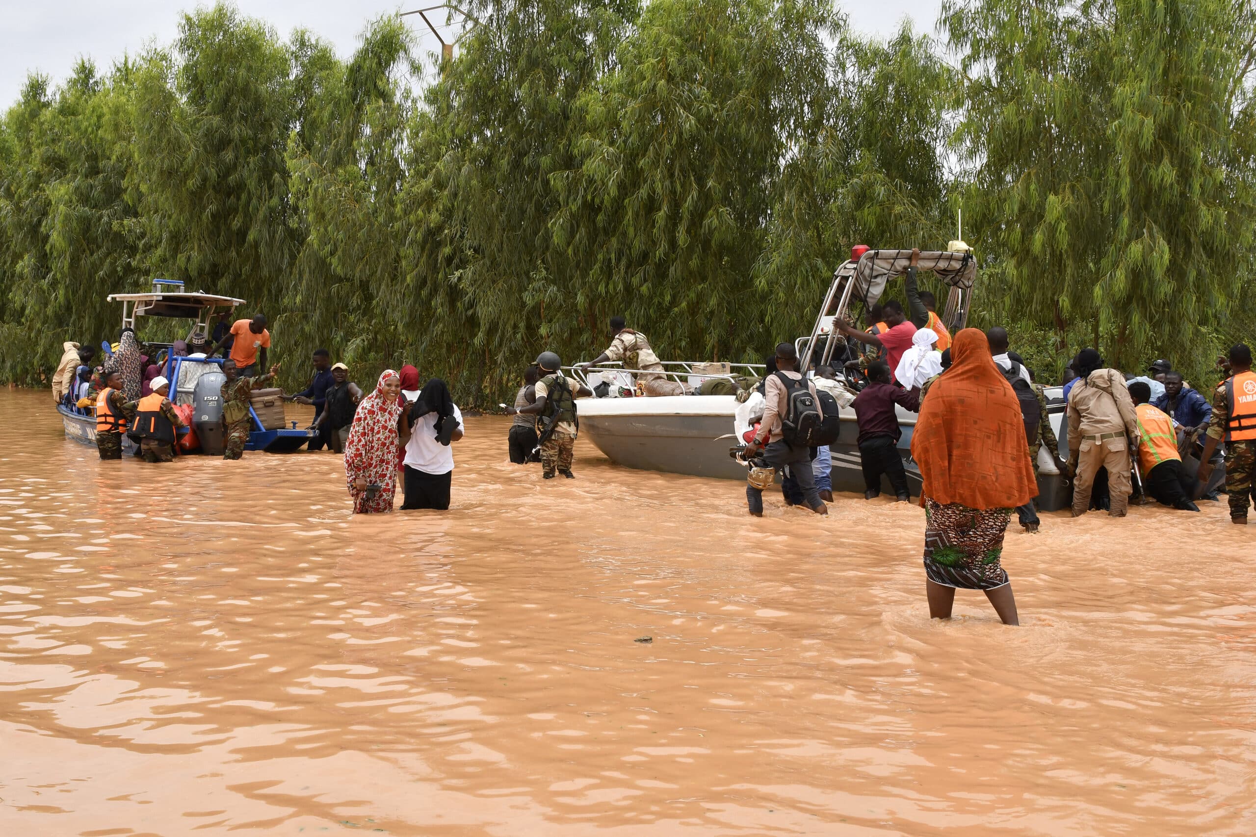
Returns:
[[[1208,440],[1199,457],[1199,482],[1208,483],[1213,452],[1226,442],[1226,493],[1230,494],[1230,520],[1247,525],[1252,504],[1252,476],[1256,473],[1256,374],[1252,374],[1252,351],[1240,343],[1230,349],[1231,378],[1217,384],[1212,397],[1212,420]],[[1240,438],[1235,438],[1235,437]]]

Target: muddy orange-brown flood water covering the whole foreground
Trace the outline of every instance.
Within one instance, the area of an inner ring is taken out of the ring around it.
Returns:
[[[929,621],[923,512],[745,516],[472,418],[448,513],[338,457],[102,463],[0,392],[0,834],[1252,834],[1256,530],[1009,533]],[[652,636],[653,642],[636,642]]]

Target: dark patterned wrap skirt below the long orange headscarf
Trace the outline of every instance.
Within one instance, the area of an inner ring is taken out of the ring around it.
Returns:
[[[1000,560],[1011,508],[968,508],[924,498],[924,573],[929,581],[963,590],[1007,584]]]

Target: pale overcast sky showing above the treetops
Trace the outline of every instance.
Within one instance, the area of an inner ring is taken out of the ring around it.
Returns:
[[[236,0],[246,15],[269,21],[283,36],[304,26],[334,44],[337,53],[353,53],[367,21],[381,14],[436,5],[440,0]],[[836,0],[854,29],[885,36],[903,18],[914,28],[933,31],[941,0]],[[178,13],[206,3],[196,0],[0,0],[0,109],[13,104],[26,74],[38,70],[54,84],[69,75],[74,61],[87,56],[107,70],[124,53],[146,44],[166,45],[178,34]],[[422,29],[418,16],[411,16]],[[426,34],[425,49],[438,49]]]

